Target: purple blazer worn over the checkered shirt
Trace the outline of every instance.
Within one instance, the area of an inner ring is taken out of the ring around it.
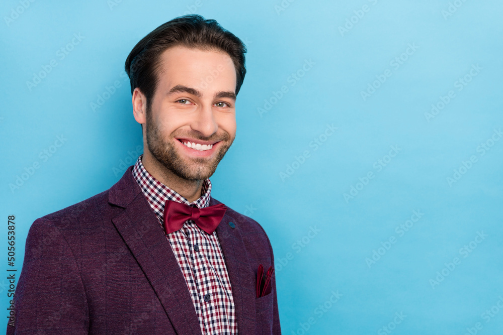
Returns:
[[[131,170],[109,190],[33,222],[7,334],[201,333],[170,243]],[[274,266],[266,232],[227,207],[216,233],[238,332],[280,334],[274,275],[271,293],[256,297],[259,264]]]

